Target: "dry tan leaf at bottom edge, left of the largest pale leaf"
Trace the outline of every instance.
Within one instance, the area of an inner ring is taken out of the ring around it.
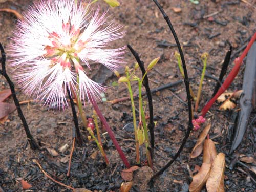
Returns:
[[[201,188],[205,185],[209,174],[211,164],[203,163],[198,174],[193,177],[192,183],[189,185],[190,192],[200,192]]]

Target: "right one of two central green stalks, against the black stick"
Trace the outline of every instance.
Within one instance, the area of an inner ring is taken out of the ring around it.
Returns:
[[[140,112],[141,112],[141,114],[140,114],[141,118],[140,119],[142,120],[143,129],[144,129],[145,145],[146,145],[146,157],[147,157],[148,165],[150,165],[150,167],[153,168],[152,161],[151,161],[150,150],[148,150],[148,148],[150,147],[150,139],[148,138],[148,134],[147,134],[146,118],[145,118],[143,104],[142,104],[142,91],[141,91],[141,88],[142,88],[142,82],[143,82],[144,76],[142,78],[142,81],[138,80],[138,82],[139,82],[139,108],[140,108]]]

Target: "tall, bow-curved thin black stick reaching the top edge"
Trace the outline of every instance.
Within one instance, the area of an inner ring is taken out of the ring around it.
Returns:
[[[188,129],[186,132],[186,135],[184,137],[184,139],[182,140],[181,146],[178,150],[178,152],[175,154],[175,156],[173,157],[172,160],[170,160],[162,169],[159,170],[159,172],[157,172],[151,179],[151,183],[154,183],[154,180],[156,177],[158,177],[159,175],[161,175],[170,165],[172,165],[172,163],[177,159],[177,157],[180,155],[181,151],[183,150],[183,147],[189,137],[189,134],[191,132],[191,130],[193,129],[193,124],[192,124],[192,105],[191,105],[191,95],[189,92],[189,79],[188,79],[188,75],[187,75],[187,68],[186,68],[186,63],[185,63],[185,59],[184,59],[184,55],[180,46],[180,42],[179,39],[176,35],[176,32],[173,28],[172,23],[170,23],[170,19],[169,17],[166,15],[166,13],[164,12],[163,8],[161,7],[161,5],[158,3],[157,0],[153,0],[155,2],[155,4],[157,5],[158,9],[161,11],[166,23],[168,24],[170,31],[172,31],[173,36],[175,38],[177,47],[179,49],[180,52],[180,57],[181,57],[181,61],[182,61],[182,66],[183,66],[183,70],[184,70],[184,83],[185,83],[185,87],[186,87],[186,93],[187,93],[187,104],[188,104]]]

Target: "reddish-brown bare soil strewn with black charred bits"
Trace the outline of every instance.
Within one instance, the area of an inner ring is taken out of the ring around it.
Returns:
[[[188,75],[191,78],[190,83],[194,92],[197,92],[201,76],[201,71],[198,70],[198,68],[202,69],[200,56],[203,52],[209,53],[207,74],[211,78],[208,76],[204,80],[199,110],[211,97],[216,84],[216,80],[212,77],[219,76],[221,64],[229,45],[234,47],[233,53],[237,53],[232,56],[233,61],[234,58],[239,56],[240,52],[237,52],[237,50],[247,44],[248,38],[256,30],[255,8],[251,5],[240,1],[214,2],[200,1],[200,4],[195,5],[190,1],[160,1],[183,45]],[[247,0],[247,2],[253,3],[255,1]],[[22,13],[30,4],[32,4],[32,1],[29,0],[0,1],[0,8],[11,8]],[[175,13],[172,7],[180,7],[182,11]],[[101,9],[108,9],[103,1]],[[218,13],[213,16],[214,22],[210,22],[209,17],[204,18],[216,11]],[[127,31],[127,35],[122,40],[116,41],[113,46],[121,47],[128,43],[131,44],[140,53],[145,65],[153,58],[161,56],[158,65],[149,74],[151,88],[182,79],[174,58],[174,52],[177,50],[175,46],[172,46],[175,43],[174,38],[153,1],[123,0],[121,6],[111,8],[109,14],[113,14],[117,22],[123,24]],[[9,38],[12,37],[15,24],[16,17],[13,14],[0,12],[0,42],[5,48],[10,41]],[[168,44],[171,46],[168,46]],[[129,66],[132,66],[135,62],[128,51],[125,60]],[[232,66],[233,62],[231,62],[228,72]],[[228,89],[229,91],[242,88],[244,67],[243,65],[238,77]],[[111,86],[112,82],[117,81],[112,73],[102,70],[99,65],[93,65],[91,73],[96,80],[111,87],[106,92],[108,100],[128,96],[124,86]],[[105,73],[109,75],[103,78],[102,75]],[[99,77],[102,78],[99,79]],[[0,91],[9,88],[3,77],[0,77],[0,83]],[[133,87],[135,88],[134,91],[137,91],[136,86]],[[184,104],[184,101],[181,102],[184,94],[185,87],[183,83],[153,94],[154,115],[157,121],[155,127],[154,172],[163,167],[176,153],[187,130],[187,105]],[[20,101],[30,99],[18,89],[17,96]],[[10,98],[7,102],[12,103],[13,101]],[[135,101],[135,104],[138,105],[138,100]],[[220,104],[214,105],[206,119],[207,122],[212,123],[210,137],[214,137],[214,141],[218,143],[216,145],[217,152],[226,154],[225,189],[226,191],[255,191],[256,184],[249,177],[251,176],[254,179],[256,177],[256,173],[249,170],[252,166],[256,166],[255,161],[254,164],[247,164],[241,163],[238,159],[241,154],[256,159],[255,123],[248,127],[245,135],[246,139],[243,140],[239,148],[229,155],[230,143],[228,142],[227,133],[229,126],[232,124],[232,111],[219,111],[218,105]],[[100,108],[109,121],[130,163],[135,164],[131,103],[129,101],[117,104],[104,102],[100,103]],[[8,116],[9,120],[0,125],[1,192],[22,191],[21,185],[17,182],[18,178],[23,178],[33,186],[30,191],[71,191],[46,178],[39,167],[33,163],[33,159],[36,159],[53,178],[74,188],[87,188],[92,191],[119,191],[123,182],[120,170],[124,169],[125,166],[108,135],[104,135],[104,149],[110,160],[110,165],[106,166],[100,153],[95,159],[91,158],[91,155],[98,151],[98,148],[94,142],[88,141],[88,132],[83,128],[81,129],[84,143],[82,146],[75,147],[71,176],[67,177],[68,163],[61,163],[60,160],[68,156],[71,150],[73,127],[71,109],[53,111],[36,102],[24,104],[22,109],[32,134],[40,142],[42,148],[50,147],[58,151],[59,147],[65,144],[68,144],[69,148],[56,157],[51,156],[46,150],[31,150],[17,112],[13,112]],[[85,110],[88,116],[92,115],[91,106],[88,106]],[[253,117],[255,117],[255,112],[251,114],[251,119]],[[81,119],[79,123],[82,126]],[[131,126],[122,129],[128,123]],[[200,166],[202,162],[201,156],[196,159],[189,158],[189,153],[194,147],[200,132],[201,130],[191,133],[177,161],[157,179],[155,191],[188,191],[192,180],[191,170],[194,170],[195,165]],[[145,159],[143,153],[142,165],[145,165]],[[241,172],[241,169],[244,170],[244,173]],[[135,183],[139,183],[141,186],[135,185],[131,191],[142,191],[143,188],[145,191],[150,191],[146,182],[136,181]],[[204,188],[202,191],[206,191],[206,189]]]

